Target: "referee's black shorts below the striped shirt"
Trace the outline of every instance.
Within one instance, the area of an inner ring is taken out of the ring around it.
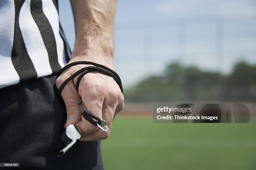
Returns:
[[[0,89],[0,162],[25,169],[103,169],[100,141],[60,140],[67,113],[49,75]],[[1,80],[0,80],[1,81]]]

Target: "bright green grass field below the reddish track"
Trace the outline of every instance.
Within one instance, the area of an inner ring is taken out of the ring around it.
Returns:
[[[256,169],[255,123],[153,123],[116,117],[102,141],[106,170]],[[255,162],[255,163],[254,163]]]

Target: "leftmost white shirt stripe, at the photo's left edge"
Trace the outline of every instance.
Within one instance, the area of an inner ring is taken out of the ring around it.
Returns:
[[[13,1],[0,1],[0,88],[19,83],[19,76],[13,67],[15,8]]]

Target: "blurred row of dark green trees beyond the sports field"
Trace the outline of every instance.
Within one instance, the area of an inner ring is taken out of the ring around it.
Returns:
[[[255,101],[255,72],[256,67],[245,62],[237,63],[229,76],[172,63],[164,74],[145,78],[124,95],[128,101],[141,102]]]

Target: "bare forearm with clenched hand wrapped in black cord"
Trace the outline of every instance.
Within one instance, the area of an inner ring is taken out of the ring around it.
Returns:
[[[69,63],[75,61],[92,61],[113,69],[113,30],[116,1],[102,0],[71,0],[76,42]],[[56,86],[76,71],[90,65],[72,66],[65,70],[57,79]],[[79,76],[79,75],[78,75]],[[112,121],[122,108],[124,97],[115,80],[105,74],[90,72],[83,76],[79,91],[75,84],[76,76],[62,89],[61,96],[67,108],[67,122],[76,125],[81,119],[79,128],[82,132],[81,141],[106,139],[109,136]],[[109,127],[108,132],[99,129],[83,118],[79,105],[84,103],[92,114],[102,117]]]

